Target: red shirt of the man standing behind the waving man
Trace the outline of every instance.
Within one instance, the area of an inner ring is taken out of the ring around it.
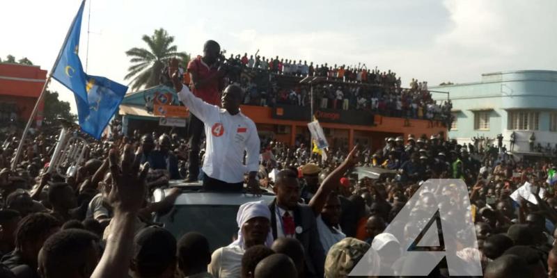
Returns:
[[[201,56],[197,56],[194,60],[187,64],[187,72],[196,72],[198,79],[207,79],[213,74],[217,74],[217,67],[210,67],[201,60]],[[214,79],[210,83],[206,83],[201,88],[191,90],[194,95],[208,104],[221,106],[221,93],[219,92],[219,80]]]

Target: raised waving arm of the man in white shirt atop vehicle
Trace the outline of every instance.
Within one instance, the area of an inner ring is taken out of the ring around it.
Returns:
[[[201,120],[201,122],[207,122],[211,118],[212,114],[219,113],[219,106],[214,106],[207,104],[207,102],[194,96],[187,86],[182,85],[180,81],[180,72],[178,69],[173,71],[172,83],[174,84],[174,89],[178,93],[178,99],[184,103],[184,105],[189,109],[189,112],[194,114]]]

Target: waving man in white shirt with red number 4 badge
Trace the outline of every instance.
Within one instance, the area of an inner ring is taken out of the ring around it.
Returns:
[[[178,99],[205,124],[207,145],[203,161],[203,188],[241,192],[244,174],[249,172],[248,186],[253,193],[259,193],[256,174],[260,142],[256,124],[240,112],[242,89],[237,85],[228,85],[221,97],[223,108],[219,108],[195,97],[178,79],[178,71],[172,72]],[[244,151],[247,154],[246,165],[243,163]]]

